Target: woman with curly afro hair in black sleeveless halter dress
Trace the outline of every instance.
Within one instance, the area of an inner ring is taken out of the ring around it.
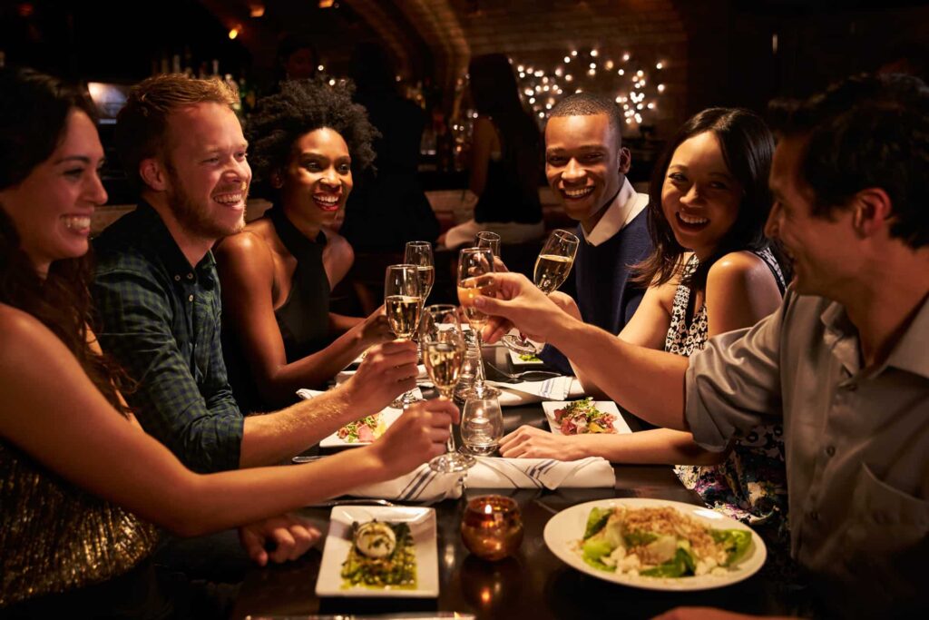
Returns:
[[[321,386],[393,337],[380,311],[366,320],[329,311],[330,292],[354,260],[332,227],[353,169],[374,157],[375,130],[350,94],[346,86],[285,82],[249,121],[249,161],[276,205],[216,251],[223,352],[243,411],[294,402],[297,389]]]

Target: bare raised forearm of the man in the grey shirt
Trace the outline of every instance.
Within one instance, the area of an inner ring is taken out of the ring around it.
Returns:
[[[687,358],[631,345],[575,319],[559,321],[548,341],[636,416],[666,429],[687,430]]]

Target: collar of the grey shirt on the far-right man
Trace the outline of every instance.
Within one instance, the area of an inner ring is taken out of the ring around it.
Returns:
[[[830,345],[839,361],[855,374],[860,368],[861,355],[858,346],[858,332],[842,304],[831,302],[819,320],[826,327],[826,343]],[[907,330],[890,352],[885,363],[875,372],[893,366],[914,375],[929,378],[929,356],[925,355],[925,340],[929,336],[929,297],[922,300],[920,310],[909,323]]]

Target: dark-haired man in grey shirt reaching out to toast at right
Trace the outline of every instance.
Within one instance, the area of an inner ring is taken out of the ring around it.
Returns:
[[[610,396],[723,450],[783,417],[792,555],[834,613],[925,611],[929,552],[929,88],[857,77],[789,112],[767,233],[781,310],[689,358],[637,349],[498,276],[481,310],[543,334]],[[490,341],[504,324],[491,324]],[[605,363],[608,362],[608,363]]]

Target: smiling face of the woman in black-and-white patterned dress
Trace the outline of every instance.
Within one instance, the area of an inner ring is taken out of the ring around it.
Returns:
[[[707,131],[674,150],[661,186],[661,210],[677,243],[703,259],[736,222],[743,193],[719,140]]]

